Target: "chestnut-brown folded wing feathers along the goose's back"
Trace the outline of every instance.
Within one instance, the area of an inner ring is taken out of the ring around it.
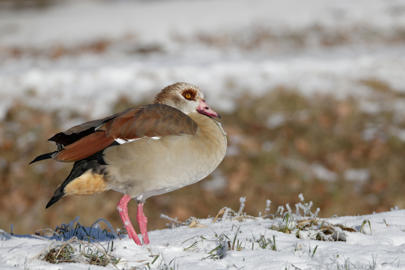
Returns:
[[[103,124],[104,123],[104,124]],[[102,124],[100,126],[100,124]],[[95,132],[95,128],[98,130]],[[108,147],[115,139],[136,139],[142,137],[189,134],[195,135],[198,125],[188,115],[168,105],[149,104],[127,109],[121,113],[94,120],[58,133],[61,141],[78,138],[55,153],[53,159],[75,162]],[[75,133],[77,132],[77,133]],[[79,134],[87,134],[80,137]],[[57,135],[58,135],[57,134]],[[64,136],[62,135],[64,134]],[[69,138],[69,139],[65,139]]]

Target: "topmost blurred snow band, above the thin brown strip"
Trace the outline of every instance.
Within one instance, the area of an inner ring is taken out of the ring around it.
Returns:
[[[142,42],[171,42],[173,35],[232,31],[251,26],[304,28],[315,23],[333,27],[402,26],[403,1],[381,0],[194,0],[69,1],[40,12],[0,13],[6,45],[69,43],[135,34]],[[397,12],[394,12],[397,11]],[[89,14],[91,14],[89,16]],[[378,18],[378,19],[375,19]],[[13,31],[14,30],[14,31]]]

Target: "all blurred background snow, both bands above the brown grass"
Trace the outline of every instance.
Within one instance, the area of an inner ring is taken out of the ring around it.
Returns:
[[[234,100],[244,93],[261,96],[280,85],[309,96],[364,97],[370,91],[359,81],[375,78],[404,91],[403,47],[384,41],[395,40],[395,31],[405,27],[404,6],[399,0],[64,1],[41,10],[0,11],[0,53],[15,46],[40,52],[75,48],[100,39],[113,44],[105,53],[57,59],[0,54],[0,118],[17,101],[104,117],[122,96],[149,100],[177,81],[200,86],[220,111],[233,111]],[[318,26],[326,34],[347,33],[349,44],[320,47],[316,40],[322,34],[309,30]],[[286,40],[287,46],[273,44],[275,49],[238,47],[261,28],[281,37],[303,34],[306,45],[285,49],[296,42]],[[363,28],[366,32],[356,32]],[[377,41],[362,41],[367,31],[376,33]],[[215,47],[198,41],[201,34],[231,39]],[[161,53],[128,53],[155,45]],[[365,111],[379,110],[364,102]]]

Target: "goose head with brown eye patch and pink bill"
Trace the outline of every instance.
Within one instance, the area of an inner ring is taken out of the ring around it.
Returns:
[[[207,103],[205,103],[203,91],[191,83],[175,83],[166,86],[156,95],[153,103],[162,103],[172,106],[185,114],[201,113],[211,117],[221,118]]]

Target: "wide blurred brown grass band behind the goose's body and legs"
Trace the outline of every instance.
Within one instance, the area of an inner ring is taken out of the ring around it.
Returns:
[[[402,98],[382,82],[360,83],[375,91],[382,102]],[[130,106],[125,99],[122,102]],[[166,227],[161,213],[179,220],[190,216],[205,218],[216,215],[218,206],[238,208],[234,198],[241,196],[247,196],[245,211],[250,215],[263,211],[267,199],[272,201],[273,213],[278,205],[297,203],[299,193],[322,209],[321,217],[405,207],[405,143],[388,132],[392,126],[405,128],[405,123],[394,123],[394,112],[389,108],[367,114],[353,98],[306,98],[296,91],[279,88],[261,98],[244,96],[238,101],[237,111],[221,114],[222,126],[238,148],[219,166],[227,179],[226,188],[207,191],[200,182],[149,198],[145,205],[149,230]],[[283,115],[285,121],[269,128],[269,118],[276,114]],[[88,197],[67,196],[45,209],[72,164],[52,160],[30,166],[28,163],[37,155],[54,151],[54,145],[44,141],[61,131],[60,121],[72,117],[77,115],[43,112],[16,103],[0,122],[0,228],[7,230],[14,224],[13,232],[32,234],[77,215],[84,225],[103,217],[113,227],[122,227],[116,210],[121,194],[115,191]],[[379,131],[374,138],[364,140],[364,130],[370,124],[378,126]],[[311,174],[308,170],[313,164],[334,172],[335,181]],[[346,181],[344,172],[350,168],[368,169],[369,179]],[[138,230],[134,202],[129,209]]]

